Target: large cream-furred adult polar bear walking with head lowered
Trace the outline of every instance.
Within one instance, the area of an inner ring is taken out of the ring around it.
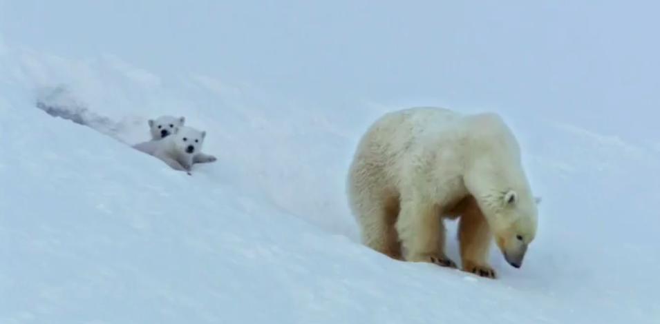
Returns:
[[[520,148],[496,114],[410,108],[375,121],[350,165],[348,199],[363,242],[395,259],[455,267],[442,219],[460,218],[462,270],[495,278],[496,237],[520,267],[536,235],[536,199]]]

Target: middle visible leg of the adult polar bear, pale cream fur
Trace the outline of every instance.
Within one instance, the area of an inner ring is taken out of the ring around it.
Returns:
[[[404,259],[456,267],[444,254],[444,224],[433,204],[404,200],[396,229],[405,250]]]

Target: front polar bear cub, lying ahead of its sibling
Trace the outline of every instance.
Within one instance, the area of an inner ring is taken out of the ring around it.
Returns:
[[[155,156],[174,170],[190,174],[196,152],[202,150],[206,132],[181,126],[173,128],[171,136],[133,145],[140,152]]]

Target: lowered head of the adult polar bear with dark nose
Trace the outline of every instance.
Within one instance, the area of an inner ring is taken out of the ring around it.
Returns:
[[[507,262],[521,267],[527,246],[534,241],[537,227],[536,205],[539,198],[508,190],[491,196],[489,224]]]

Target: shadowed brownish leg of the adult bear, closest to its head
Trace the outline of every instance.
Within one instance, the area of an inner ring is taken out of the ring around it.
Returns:
[[[492,240],[491,229],[475,201],[464,210],[458,225],[462,270],[495,279],[497,274],[488,264]]]

